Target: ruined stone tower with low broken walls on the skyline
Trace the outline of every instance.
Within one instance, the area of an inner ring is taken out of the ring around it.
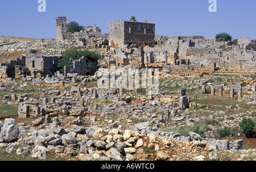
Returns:
[[[58,17],[55,19],[56,21],[56,40],[68,40],[70,38],[89,38],[89,37],[100,37],[101,36],[101,29],[100,27],[96,27],[94,24],[93,26],[88,26],[85,28],[84,31],[71,33],[68,32],[68,24],[67,24],[67,17]]]

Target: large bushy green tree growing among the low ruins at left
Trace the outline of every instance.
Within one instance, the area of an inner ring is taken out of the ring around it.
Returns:
[[[92,62],[97,62],[101,55],[89,50],[70,49],[61,54],[61,59],[58,61],[58,68],[61,73],[64,73],[64,66],[73,66],[73,61],[82,57],[87,57]],[[89,64],[86,66],[89,67]]]

